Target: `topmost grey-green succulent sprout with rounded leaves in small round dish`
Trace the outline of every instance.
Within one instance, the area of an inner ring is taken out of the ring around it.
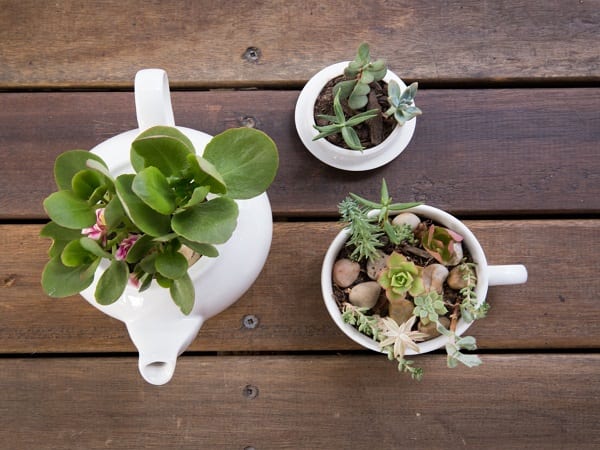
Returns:
[[[368,103],[370,84],[385,77],[387,67],[385,61],[378,59],[371,62],[369,44],[363,43],[358,47],[354,61],[344,69],[346,80],[340,81],[333,87],[334,94],[340,94],[341,100],[348,100],[348,106],[353,110],[364,108]]]

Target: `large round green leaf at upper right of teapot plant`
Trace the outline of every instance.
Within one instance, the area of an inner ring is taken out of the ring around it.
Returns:
[[[234,128],[215,136],[206,146],[203,157],[223,177],[227,195],[239,199],[266,191],[279,166],[275,143],[253,128]]]

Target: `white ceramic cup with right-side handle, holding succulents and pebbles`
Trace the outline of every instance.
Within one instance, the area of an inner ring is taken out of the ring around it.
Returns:
[[[412,212],[422,218],[430,218],[440,225],[443,225],[463,236],[463,244],[469,250],[471,256],[473,257],[473,261],[476,263],[477,287],[475,289],[475,293],[477,295],[478,305],[481,305],[485,301],[488,286],[520,284],[527,281],[527,269],[521,264],[488,265],[485,253],[483,252],[483,249],[481,248],[481,245],[479,244],[479,241],[475,235],[471,232],[471,230],[469,230],[469,228],[467,228],[465,224],[447,212],[427,205],[415,206],[414,208],[406,209],[401,212]],[[325,254],[321,271],[321,290],[323,293],[323,300],[325,301],[325,306],[327,307],[327,311],[329,312],[329,315],[333,321],[350,339],[366,348],[380,352],[381,349],[377,341],[364,335],[355,327],[345,323],[342,320],[342,314],[333,295],[333,264],[335,263],[337,255],[339,254],[340,250],[342,250],[349,237],[350,232],[347,228],[340,231]],[[470,325],[470,323],[466,322],[462,318],[459,319],[456,327],[456,333],[462,335]],[[447,340],[448,338],[445,336],[438,336],[428,341],[419,342],[419,352],[407,349],[406,354],[414,355],[417,353],[427,353],[436,350],[445,346]]]

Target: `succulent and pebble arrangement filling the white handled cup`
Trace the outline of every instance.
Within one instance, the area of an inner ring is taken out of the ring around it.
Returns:
[[[447,337],[449,367],[481,364],[468,353],[476,349],[475,339],[456,328],[461,317],[468,323],[485,317],[488,305],[477,301],[476,264],[462,248],[463,237],[402,211],[415,205],[393,203],[385,180],[379,201],[350,194],[339,204],[349,239],[334,264],[333,288],[342,319],[377,341],[400,371],[420,380],[423,371],[406,350],[418,352],[419,342],[440,335]],[[357,275],[348,278],[342,267]],[[372,289],[373,283],[380,289]],[[358,288],[362,284],[371,288]]]

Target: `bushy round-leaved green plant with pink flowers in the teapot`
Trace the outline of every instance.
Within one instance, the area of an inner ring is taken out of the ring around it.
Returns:
[[[157,126],[133,141],[130,160],[134,172],[113,177],[88,151],[58,156],[58,191],[43,203],[51,220],[41,236],[53,242],[42,287],[51,297],[74,295],[105,261],[99,304],[116,302],[128,284],[143,291],[155,281],[187,315],[195,302],[190,265],[218,256],[237,225],[236,200],[273,181],[277,148],[261,131],[236,128],[212,138],[200,156],[177,128]]]

